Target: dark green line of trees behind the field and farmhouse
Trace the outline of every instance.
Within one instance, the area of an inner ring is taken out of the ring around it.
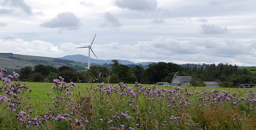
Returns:
[[[76,68],[76,67],[75,67]],[[79,68],[78,68],[79,69]],[[223,86],[237,84],[256,84],[256,74],[247,69],[238,69],[238,66],[219,63],[206,66],[181,66],[175,63],[158,62],[149,64],[147,69],[136,65],[129,67],[112,60],[111,68],[91,66],[88,71],[76,71],[69,66],[54,68],[52,66],[36,65],[34,69],[24,67],[20,69],[21,81],[51,82],[62,76],[66,82],[109,82],[153,84],[156,82],[171,82],[174,75],[192,76],[193,82],[217,81]]]

